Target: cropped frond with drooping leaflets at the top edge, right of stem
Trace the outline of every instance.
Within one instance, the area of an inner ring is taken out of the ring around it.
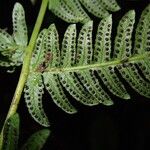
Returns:
[[[81,3],[81,4],[80,4]],[[66,22],[90,21],[90,17],[82,8],[82,5],[93,15],[105,18],[109,11],[118,11],[119,5],[115,0],[49,0],[49,9]]]

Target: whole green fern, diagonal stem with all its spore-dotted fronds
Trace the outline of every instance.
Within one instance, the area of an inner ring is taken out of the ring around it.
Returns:
[[[81,22],[81,30],[77,32],[76,24],[69,25],[62,43],[55,24],[40,31],[47,6],[64,21]],[[96,36],[93,34],[93,21],[85,9],[102,18]],[[45,127],[50,123],[42,105],[44,88],[54,103],[69,114],[76,113],[77,109],[68,100],[66,93],[87,106],[113,105],[107,90],[122,99],[130,99],[121,78],[137,93],[150,98],[150,5],[144,9],[136,27],[135,11],[127,12],[119,21],[113,41],[112,15],[108,11],[119,9],[115,0],[43,0],[28,43],[24,9],[20,3],[15,4],[12,13],[13,34],[0,29],[0,65],[23,66],[1,132],[0,148],[7,140],[10,144],[15,142],[11,140],[16,134],[14,124],[18,128],[19,119],[14,114],[23,89],[29,113]],[[10,128],[7,127],[9,120],[12,122]],[[8,132],[5,132],[7,128]],[[31,139],[36,136],[41,138],[36,134]],[[34,143],[32,141],[35,140],[31,140],[31,144]],[[9,145],[4,149],[9,149]]]

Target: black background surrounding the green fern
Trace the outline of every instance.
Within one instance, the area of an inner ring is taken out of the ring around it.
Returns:
[[[12,33],[11,12],[15,0],[0,1],[0,28],[8,28]],[[26,21],[31,35],[34,22],[40,6],[40,1],[32,6],[29,0],[19,1],[25,8]],[[136,21],[142,10],[150,3],[149,0],[118,0],[122,7],[119,12],[113,13],[113,36],[120,18],[130,9],[136,11]],[[91,15],[95,25],[100,21]],[[47,11],[43,27],[56,23],[58,31],[63,35],[67,23],[58,19]],[[137,22],[136,22],[137,23]],[[42,27],[42,28],[43,28]],[[78,25],[80,28],[81,25]],[[15,73],[8,74],[5,68],[0,68],[0,127],[6,117],[7,111],[20,74],[17,68]],[[124,81],[123,81],[124,82]],[[43,98],[44,109],[49,117],[51,136],[45,150],[146,150],[150,149],[150,99],[142,97],[126,87],[131,95],[128,101],[113,95],[115,105],[106,107],[98,105],[87,107],[76,102],[68,95],[70,101],[78,109],[75,115],[68,115],[60,110],[45,91]],[[22,97],[18,112],[21,118],[20,144],[31,133],[42,129],[29,115]]]

